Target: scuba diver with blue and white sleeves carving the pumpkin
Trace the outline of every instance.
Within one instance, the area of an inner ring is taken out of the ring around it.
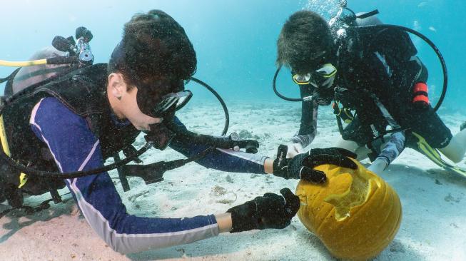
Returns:
[[[196,52],[183,27],[163,11],[152,10],[136,14],[125,24],[108,64],[78,66],[64,75],[41,79],[19,93],[13,91],[1,108],[7,137],[2,136],[1,195],[21,208],[22,193],[50,191],[56,199],[56,190],[66,185],[88,224],[121,253],[180,245],[220,232],[290,225],[300,200],[288,188],[280,190],[281,195],[265,193],[226,213],[143,218],[126,212],[110,176],[101,171],[105,160],[121,150],[127,155],[126,162],[137,160],[132,144],[141,131],[154,148],[170,146],[188,157],[209,148],[199,141],[201,135],[189,134],[175,116],[177,104],[192,94],[184,89],[184,83],[196,71],[196,63]],[[24,79],[34,75],[34,71],[17,73]],[[16,80],[21,83],[21,78]],[[350,160],[354,153],[347,150],[313,149],[286,158],[287,150],[280,145],[282,153],[273,160],[231,146],[208,150],[196,162],[206,168],[273,173],[313,183],[325,182],[325,173],[313,170],[315,165],[357,168]],[[51,174],[57,171],[66,180]]]

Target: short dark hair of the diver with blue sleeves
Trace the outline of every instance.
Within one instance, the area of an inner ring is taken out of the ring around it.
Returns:
[[[183,27],[161,10],[136,14],[108,62],[108,73],[122,73],[132,86],[179,83],[196,72],[196,51]]]

